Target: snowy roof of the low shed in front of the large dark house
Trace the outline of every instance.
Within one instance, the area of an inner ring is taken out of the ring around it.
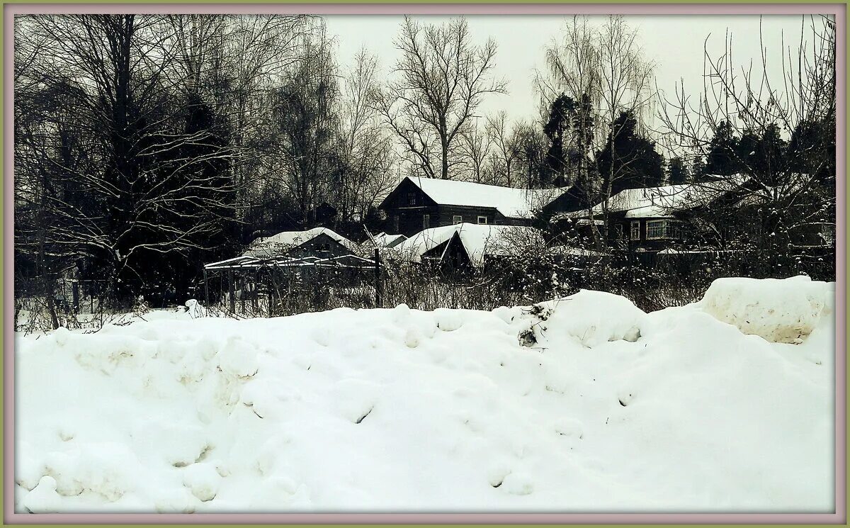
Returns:
[[[484,264],[484,255],[507,255],[521,251],[524,241],[542,241],[539,230],[519,225],[454,224],[422,230],[394,247],[399,258],[422,262],[422,255],[455,233],[461,238],[473,266]]]

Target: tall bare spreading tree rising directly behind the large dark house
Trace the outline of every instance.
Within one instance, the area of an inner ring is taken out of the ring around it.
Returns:
[[[462,18],[422,26],[405,17],[395,46],[395,77],[375,105],[416,167],[449,179],[456,140],[484,95],[507,94],[506,83],[492,79],[496,42],[474,45]]]

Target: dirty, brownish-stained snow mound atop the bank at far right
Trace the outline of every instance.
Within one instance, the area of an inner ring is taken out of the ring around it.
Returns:
[[[706,313],[771,343],[802,343],[830,316],[835,283],[789,279],[717,279],[701,301]]]

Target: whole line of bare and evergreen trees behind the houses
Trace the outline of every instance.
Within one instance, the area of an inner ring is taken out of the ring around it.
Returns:
[[[539,115],[512,121],[478,115],[508,85],[496,42],[473,42],[463,18],[405,17],[382,67],[365,49],[339,64],[308,15],[19,16],[16,272],[46,293],[73,269],[116,298],[182,294],[258,233],[379,226],[406,174],[576,185],[607,214],[619,190],[746,173],[765,229],[802,221],[801,206],[834,221],[835,26],[803,27],[774,84],[742,74],[729,42],[706,52],[699,94],[670,98],[625,19],[576,16],[541,50]]]

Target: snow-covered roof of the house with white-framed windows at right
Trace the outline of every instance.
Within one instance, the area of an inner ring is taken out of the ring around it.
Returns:
[[[609,198],[608,210],[609,213],[626,212],[627,219],[670,218],[676,211],[706,205],[744,181],[745,177],[736,175],[705,183],[621,190]],[[563,213],[558,218],[587,218],[602,213],[602,203],[598,203],[590,211]]]

